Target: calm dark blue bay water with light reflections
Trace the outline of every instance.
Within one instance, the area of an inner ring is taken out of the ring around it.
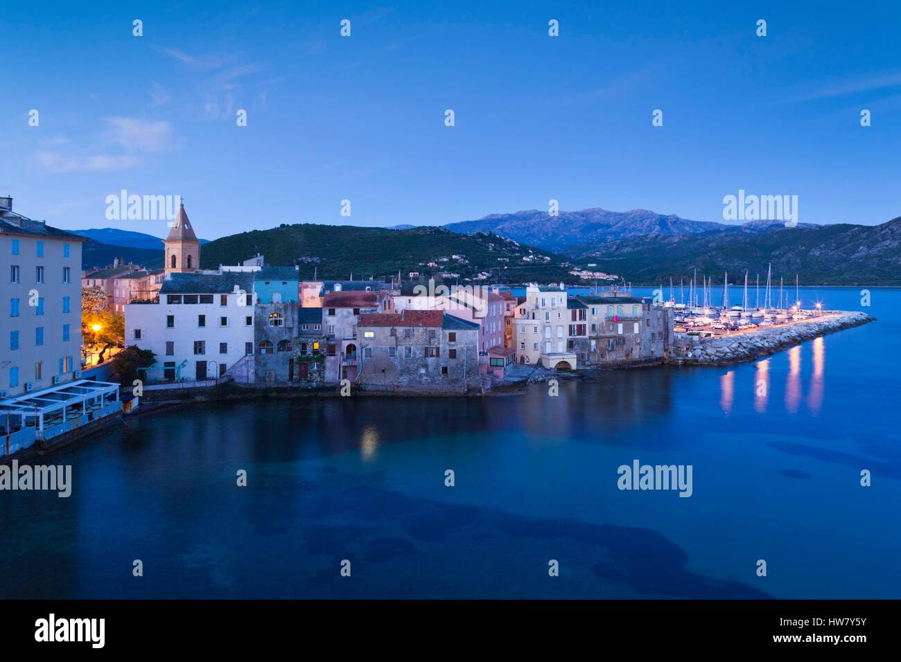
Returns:
[[[860,309],[860,289],[802,299]],[[0,597],[899,598],[901,291],[864,310],[878,322],[766,360],[556,398],[139,416],[50,456],[70,498],[0,493]],[[693,496],[618,490],[635,458],[692,465]]]

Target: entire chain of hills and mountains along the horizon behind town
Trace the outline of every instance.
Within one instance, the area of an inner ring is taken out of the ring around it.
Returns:
[[[83,251],[85,268],[116,257],[162,264],[161,240],[151,235],[114,228],[77,233],[93,240]],[[727,224],[591,208],[556,217],[539,210],[491,214],[443,228],[283,224],[205,242],[201,263],[237,264],[257,252],[273,266],[300,265],[303,277],[387,277],[399,269],[405,276],[448,272],[464,279],[487,272],[506,282],[578,282],[569,275],[578,267],[651,284],[695,271],[715,277],[728,271],[736,279],[748,271],[753,277],[771,263],[777,277],[797,274],[809,284],[888,286],[901,285],[901,217],[875,226],[786,228],[776,221]],[[455,254],[466,260],[450,257]],[[441,257],[450,261],[428,266]]]

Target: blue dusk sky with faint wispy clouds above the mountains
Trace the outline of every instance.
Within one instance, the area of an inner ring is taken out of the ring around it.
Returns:
[[[165,236],[107,195],[183,195],[211,240],[551,199],[723,222],[740,189],[797,195],[800,222],[901,215],[897,2],[159,5],[5,5],[16,211]]]

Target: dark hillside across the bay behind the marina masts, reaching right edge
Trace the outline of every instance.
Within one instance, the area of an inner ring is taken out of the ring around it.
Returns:
[[[847,223],[772,226],[757,234],[710,231],[609,241],[572,250],[578,264],[596,263],[634,282],[657,283],[697,273],[738,278],[745,270],[818,285],[901,284],[901,217],[876,226]]]

